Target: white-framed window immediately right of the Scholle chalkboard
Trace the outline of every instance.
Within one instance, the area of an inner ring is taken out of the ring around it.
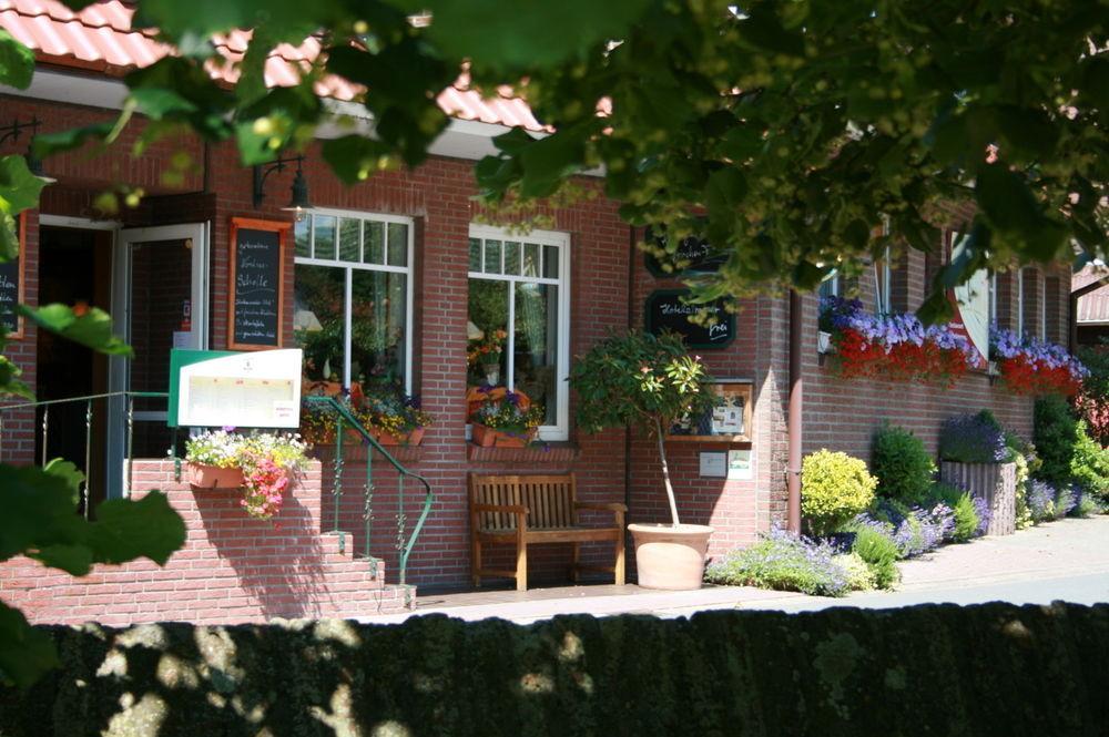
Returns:
[[[294,243],[293,335],[305,376],[410,393],[413,221],[312,209]]]

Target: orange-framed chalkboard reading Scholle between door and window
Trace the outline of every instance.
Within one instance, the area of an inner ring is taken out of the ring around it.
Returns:
[[[231,310],[227,347],[279,348],[284,315],[285,240],[289,225],[231,219]]]

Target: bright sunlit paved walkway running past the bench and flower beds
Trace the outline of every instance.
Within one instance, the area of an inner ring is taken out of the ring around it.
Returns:
[[[413,614],[366,617],[400,622],[442,613],[468,621],[501,617],[521,624],[558,614],[689,616],[721,608],[801,612],[830,606],[887,608],[929,602],[1018,604],[1066,600],[1109,602],[1109,516],[1060,520],[1004,538],[946,545],[901,563],[896,592],[855,593],[845,598],[805,596],[749,586],[705,586],[660,592],[635,585],[567,586],[527,592],[478,591],[419,596]]]

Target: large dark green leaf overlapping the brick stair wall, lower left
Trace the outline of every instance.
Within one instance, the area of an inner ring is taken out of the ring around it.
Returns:
[[[185,522],[161,492],[152,491],[138,501],[113,499],[96,508],[89,543],[101,563],[149,557],[165,565],[185,544]]]

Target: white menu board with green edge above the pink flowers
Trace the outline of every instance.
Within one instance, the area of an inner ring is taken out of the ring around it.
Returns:
[[[170,354],[170,427],[296,428],[301,424],[298,348]]]

